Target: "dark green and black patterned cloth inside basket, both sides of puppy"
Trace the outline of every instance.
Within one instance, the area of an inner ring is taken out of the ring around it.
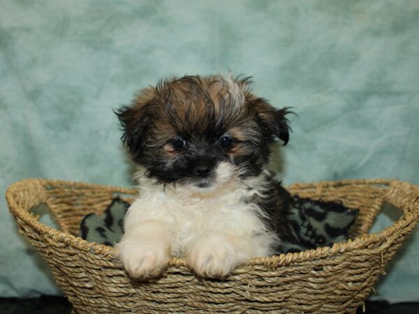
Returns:
[[[89,242],[114,246],[124,234],[123,221],[130,204],[116,197],[101,215],[89,214],[80,225],[80,236]],[[286,236],[279,253],[300,252],[347,241],[358,209],[340,202],[324,202],[293,195],[286,215]]]

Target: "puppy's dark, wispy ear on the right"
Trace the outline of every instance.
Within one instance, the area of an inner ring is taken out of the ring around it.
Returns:
[[[251,101],[251,103],[258,112],[258,116],[262,122],[264,137],[273,140],[273,137],[276,136],[286,145],[291,131],[289,126],[290,121],[286,118],[286,115],[293,114],[294,112],[289,110],[289,107],[277,109],[263,98],[257,98]]]

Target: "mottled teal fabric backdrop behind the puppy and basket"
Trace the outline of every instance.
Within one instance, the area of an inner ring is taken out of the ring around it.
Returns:
[[[244,73],[292,106],[285,184],[419,184],[419,1],[29,1],[0,5],[0,190],[130,186],[112,108],[167,75]],[[0,296],[59,294],[0,203]],[[45,223],[52,223],[47,216]],[[381,216],[374,231],[390,223]],[[373,296],[419,301],[419,232]]]

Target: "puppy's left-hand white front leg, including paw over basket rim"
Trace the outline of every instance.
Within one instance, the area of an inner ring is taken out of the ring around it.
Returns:
[[[117,259],[133,278],[158,276],[170,258],[167,223],[161,220],[128,221],[124,237],[115,247]]]

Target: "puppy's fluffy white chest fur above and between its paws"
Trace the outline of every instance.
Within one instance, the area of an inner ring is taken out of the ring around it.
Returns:
[[[215,194],[215,195],[214,195]],[[250,239],[270,233],[263,224],[263,214],[256,204],[245,202],[247,190],[228,190],[194,195],[173,190],[149,190],[140,193],[126,216],[126,231],[141,228],[142,223],[157,220],[170,232],[172,255],[184,255],[185,248],[200,237],[211,234],[233,234]],[[255,254],[267,255],[268,248],[260,244]]]

